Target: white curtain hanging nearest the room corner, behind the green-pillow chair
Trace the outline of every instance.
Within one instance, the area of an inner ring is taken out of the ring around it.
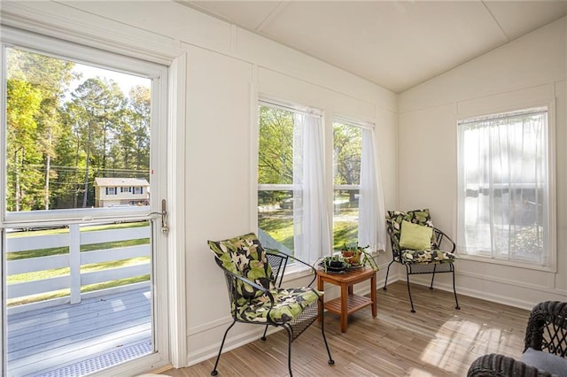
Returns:
[[[374,148],[374,130],[362,128],[361,186],[358,242],[369,250],[386,250],[384,193],[380,164]]]

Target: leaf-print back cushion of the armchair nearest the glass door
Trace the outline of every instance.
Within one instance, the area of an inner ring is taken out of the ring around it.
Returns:
[[[220,264],[231,273],[237,273],[265,289],[275,288],[274,276],[266,258],[266,251],[253,233],[223,241],[209,241],[208,245]],[[237,295],[245,299],[252,299],[261,296],[262,292],[250,284],[238,281]]]

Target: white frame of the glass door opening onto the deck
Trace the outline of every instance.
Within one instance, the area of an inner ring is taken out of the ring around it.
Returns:
[[[60,26],[66,27],[67,24]],[[154,220],[152,221],[153,224],[156,224],[154,226],[154,234],[156,235],[153,240],[154,247],[158,247],[159,250],[168,250],[167,256],[163,252],[156,253],[151,266],[152,271],[156,273],[153,284],[155,293],[152,300],[154,315],[151,319],[154,323],[154,352],[143,358],[136,358],[135,360],[114,365],[112,370],[113,373],[117,374],[140,373],[148,370],[148,368],[163,367],[169,364],[183,366],[183,358],[186,356],[187,349],[186,342],[183,340],[183,337],[176,336],[177,332],[172,331],[172,328],[181,329],[180,334],[183,334],[183,329],[186,327],[184,320],[184,311],[186,309],[185,289],[183,288],[185,278],[182,271],[184,254],[183,248],[178,247],[178,245],[183,245],[184,243],[184,234],[173,227],[169,229],[169,235],[166,237],[167,231],[164,232],[162,229],[162,232],[159,232],[157,225],[159,220],[157,219],[162,211],[167,211],[168,217],[175,221],[177,228],[183,228],[185,222],[183,212],[176,209],[176,207],[183,208],[184,204],[183,174],[185,169],[183,168],[183,161],[178,161],[178,158],[175,157],[175,150],[183,150],[182,142],[185,135],[184,127],[181,127],[185,119],[183,107],[185,94],[183,90],[180,91],[180,88],[183,88],[183,85],[185,85],[187,54],[183,50],[171,48],[167,45],[164,46],[163,44],[153,46],[152,49],[155,50],[135,49],[133,46],[136,45],[136,42],[138,42],[139,46],[144,46],[144,43],[147,41],[127,39],[123,36],[120,37],[120,34],[115,38],[114,44],[111,45],[107,42],[93,43],[93,40],[84,34],[82,28],[66,31],[63,35],[65,39],[58,39],[57,36],[54,36],[49,25],[42,22],[38,22],[33,27],[31,22],[24,22],[21,24],[21,27],[23,28],[0,25],[0,42],[2,44],[0,46],[0,61],[2,62],[0,70],[2,71],[2,77],[6,77],[4,45],[7,45],[8,47],[32,50],[56,58],[71,59],[87,65],[97,65],[105,69],[109,69],[112,66],[115,71],[138,74],[151,79],[151,103],[152,108],[155,109],[155,111],[151,112],[151,124],[153,125],[150,131],[151,140],[155,142],[150,151],[151,174],[153,174],[152,170],[161,172],[163,179],[151,180],[150,187],[154,196],[167,198],[170,203],[166,207],[165,200],[163,202],[154,200],[149,206],[116,207],[110,209],[110,211],[109,208],[102,207],[96,209],[62,209],[50,215],[43,211],[11,212],[8,215],[5,211],[6,207],[3,200],[0,201],[0,235],[4,239],[4,229],[6,227],[25,226],[30,221],[33,221],[38,226],[58,226],[84,224],[98,220],[102,222],[109,219],[125,221]],[[84,27],[84,25],[81,24],[81,27]],[[27,30],[27,28],[44,34],[36,34]],[[107,30],[102,28],[95,29],[93,30],[97,33],[107,33]],[[128,27],[123,29],[124,31],[130,30]],[[86,41],[85,43],[89,43],[89,45],[80,44],[83,41]],[[137,54],[133,53],[135,50],[138,52]],[[47,51],[50,51],[50,53]],[[93,52],[96,53],[93,54]],[[3,106],[6,104],[6,88],[4,87],[3,85],[3,88],[0,89],[0,98],[3,101]],[[3,127],[5,127],[5,112],[0,112],[0,121]],[[3,134],[5,133],[3,132]],[[169,146],[167,142],[169,142]],[[0,137],[0,148],[3,150],[6,148],[4,136]],[[172,169],[177,173],[169,173]],[[5,167],[0,171],[0,182],[2,182],[0,184],[0,196],[5,197]],[[5,244],[3,249],[5,249]],[[4,272],[1,272],[1,270],[0,278],[2,278],[4,287]],[[167,304],[168,292],[171,292],[172,289],[175,290],[175,300]],[[166,297],[165,301],[163,297]],[[3,303],[4,300],[5,296],[3,294]],[[0,311],[2,312],[4,323],[2,332],[5,332],[4,319],[6,312],[4,304]],[[4,349],[6,347],[5,342],[4,339]],[[2,365],[2,368],[6,366],[3,353],[0,353],[0,365]]]

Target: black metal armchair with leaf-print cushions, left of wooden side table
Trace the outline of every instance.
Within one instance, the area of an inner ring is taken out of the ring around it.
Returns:
[[[218,373],[216,368],[230,328],[235,323],[242,322],[265,326],[261,337],[263,341],[266,340],[269,326],[285,329],[288,335],[288,369],[291,376],[291,342],[317,319],[318,308],[323,307],[322,292],[309,287],[315,281],[315,268],[277,250],[264,250],[253,233],[224,241],[209,241],[208,245],[214,252],[214,260],[224,272],[233,319],[222,338],[211,375]],[[313,280],[309,286],[281,288],[285,267],[291,259],[311,269]],[[321,316],[323,314],[322,311]],[[332,365],[335,362],[330,357],[323,324],[322,320],[322,340],[329,354],[329,364]]]

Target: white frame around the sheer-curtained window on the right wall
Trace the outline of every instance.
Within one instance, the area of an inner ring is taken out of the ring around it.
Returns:
[[[508,102],[508,101],[507,101]],[[465,109],[468,106],[465,106]],[[535,271],[542,271],[542,272],[551,272],[556,273],[557,271],[557,236],[556,236],[556,151],[555,151],[555,102],[553,100],[543,99],[526,99],[524,101],[511,101],[508,104],[501,106],[501,107],[494,107],[490,109],[483,109],[481,111],[470,112],[470,111],[462,111],[457,113],[456,115],[456,122],[455,122],[455,146],[457,152],[457,164],[456,164],[456,174],[455,177],[456,181],[456,197],[455,197],[455,234],[457,235],[457,239],[459,239],[458,233],[461,231],[461,225],[459,224],[459,208],[461,208],[460,203],[460,192],[459,192],[459,180],[461,179],[461,172],[459,170],[461,165],[461,152],[460,149],[462,148],[459,142],[459,131],[458,127],[462,121],[467,119],[474,119],[474,118],[484,118],[484,117],[491,117],[496,116],[499,114],[512,114],[514,112],[522,112],[532,108],[538,107],[545,107],[548,111],[548,140],[547,140],[547,154],[548,154],[548,229],[546,229],[548,234],[547,240],[547,249],[548,249],[548,263],[546,265],[540,265],[530,261],[521,261],[521,260],[514,260],[514,259],[503,259],[503,258],[494,258],[492,252],[490,254],[466,254],[460,250],[460,245],[457,242],[457,252],[459,253],[459,258],[468,259],[472,261],[478,262],[485,262],[490,263],[493,265],[502,265],[502,266],[509,266],[509,267],[517,267],[517,268],[524,268],[529,270]],[[468,110],[468,109],[467,109]]]

